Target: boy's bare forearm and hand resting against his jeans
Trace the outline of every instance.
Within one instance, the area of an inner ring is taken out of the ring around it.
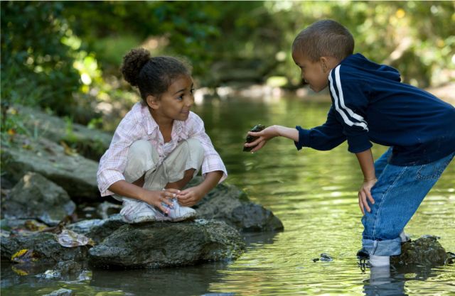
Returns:
[[[371,188],[375,185],[376,175],[375,175],[375,163],[373,161],[373,153],[371,153],[371,149],[355,153],[357,156],[358,163],[360,164],[360,168],[363,172],[363,184],[358,191],[358,206],[362,211],[362,214],[365,214],[365,209],[370,212],[370,206],[368,205],[368,200],[374,204],[375,199],[371,195]]]

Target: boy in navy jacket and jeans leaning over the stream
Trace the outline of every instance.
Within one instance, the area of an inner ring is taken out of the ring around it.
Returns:
[[[388,266],[401,253],[403,229],[455,154],[455,108],[400,82],[400,73],[359,53],[348,29],[317,21],[297,35],[292,58],[314,92],[329,87],[332,106],[322,126],[269,126],[257,133],[252,153],[276,136],[296,148],[330,150],[348,141],[363,172],[358,204],[363,253],[370,265]],[[373,163],[372,143],[390,146]],[[366,209],[366,212],[365,212]],[[400,237],[401,236],[401,237]]]

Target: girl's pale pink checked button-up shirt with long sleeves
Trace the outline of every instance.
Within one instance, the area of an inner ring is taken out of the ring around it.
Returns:
[[[205,176],[208,172],[215,170],[223,171],[223,177],[220,182],[228,177],[223,160],[213,148],[207,133],[205,133],[204,123],[198,115],[190,112],[186,121],[173,121],[171,133],[172,149],[177,144],[188,138],[197,138],[204,148],[204,160],[202,163],[202,174]],[[141,102],[134,104],[133,108],[120,121],[115,130],[112,142],[106,153],[102,155],[100,166],[97,172],[98,188],[101,196],[111,195],[114,192],[107,190],[110,185],[119,180],[125,180],[123,172],[127,166],[127,155],[129,146],[137,140],[147,140],[156,147],[159,154],[160,165],[166,158],[164,150],[164,138],[159,131],[159,126],[154,121],[149,112],[149,108]]]

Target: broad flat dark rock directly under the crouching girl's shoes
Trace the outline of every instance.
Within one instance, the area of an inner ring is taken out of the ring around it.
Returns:
[[[90,249],[97,267],[160,268],[240,256],[245,243],[237,230],[220,221],[124,225]]]

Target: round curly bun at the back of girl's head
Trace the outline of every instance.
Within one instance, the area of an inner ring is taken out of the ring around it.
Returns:
[[[150,60],[149,50],[135,48],[123,57],[122,75],[133,87],[138,86],[142,67]]]

